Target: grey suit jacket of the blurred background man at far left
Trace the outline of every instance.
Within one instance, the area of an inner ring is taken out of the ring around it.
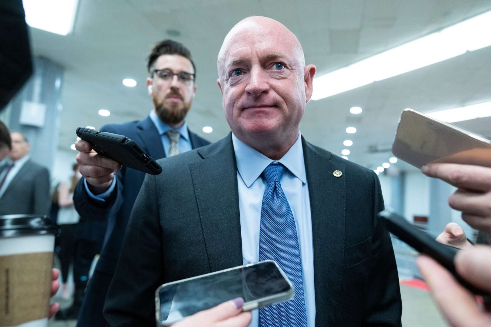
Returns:
[[[0,174],[3,169],[5,165],[0,167]],[[1,196],[0,215],[48,215],[50,204],[50,173],[29,159]]]

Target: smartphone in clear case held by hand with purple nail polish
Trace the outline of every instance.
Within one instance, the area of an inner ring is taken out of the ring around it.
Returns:
[[[243,310],[248,311],[290,300],[294,294],[278,264],[265,260],[161,285],[155,291],[155,315],[158,326],[169,326],[235,298],[243,298]]]

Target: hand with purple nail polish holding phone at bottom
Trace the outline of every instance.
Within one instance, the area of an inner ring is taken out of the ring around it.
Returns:
[[[242,298],[230,300],[189,316],[172,327],[246,327],[252,316],[250,311],[242,311],[243,305]]]

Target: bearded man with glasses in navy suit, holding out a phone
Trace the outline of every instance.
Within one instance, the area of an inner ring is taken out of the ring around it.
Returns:
[[[159,42],[148,57],[147,69],[150,74],[147,77],[148,94],[155,108],[142,121],[110,124],[101,130],[135,140],[154,159],[209,144],[192,133],[185,121],[196,93],[196,67],[190,51],[178,42]],[[75,207],[81,220],[108,220],[101,256],[88,283],[77,326],[104,327],[107,323],[102,310],[106,293],[145,174],[121,167],[116,161],[97,154],[85,141],[77,141],[75,147],[79,151],[77,161],[83,176],[75,189]],[[71,310],[58,316],[74,319],[78,311]]]

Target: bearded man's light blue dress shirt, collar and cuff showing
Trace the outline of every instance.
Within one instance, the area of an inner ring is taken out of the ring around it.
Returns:
[[[155,113],[155,110],[152,110],[150,112],[150,119],[152,120],[155,127],[157,128],[157,131],[159,132],[159,135],[160,135],[161,140],[162,140],[162,146],[164,147],[164,153],[165,153],[165,156],[167,157],[167,156],[169,156],[170,141],[169,141],[169,137],[167,135],[165,135],[165,132],[168,130],[173,130],[173,129],[170,126],[168,126],[167,124],[165,124],[159,118],[159,116],[157,116],[157,114]],[[183,124],[183,126],[181,126],[181,128],[179,128],[178,130],[173,130],[173,131],[179,132],[179,134],[181,134],[181,137],[179,137],[179,153],[190,151],[192,149],[192,146],[191,146],[191,140],[189,138],[188,125],[186,124],[186,122],[184,122],[184,124]],[[116,178],[114,178],[112,180],[112,184],[109,187],[109,189],[106,192],[99,194],[99,195],[94,195],[92,192],[90,192],[89,187],[87,185],[87,181],[85,180],[85,178],[83,179],[83,183],[85,185],[85,191],[87,191],[87,194],[89,195],[89,197],[91,197],[92,199],[99,200],[99,201],[106,201],[104,199],[109,197],[109,195],[112,193],[112,191],[114,191],[114,188],[116,186]]]

